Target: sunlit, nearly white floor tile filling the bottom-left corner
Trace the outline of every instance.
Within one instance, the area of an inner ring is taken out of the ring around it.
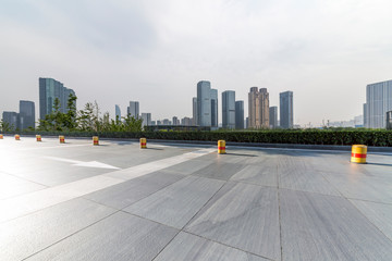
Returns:
[[[0,260],[22,260],[115,210],[74,199],[0,224]]]

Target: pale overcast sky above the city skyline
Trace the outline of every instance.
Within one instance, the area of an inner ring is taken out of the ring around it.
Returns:
[[[192,117],[199,80],[270,105],[294,92],[294,123],[363,114],[366,85],[392,79],[390,0],[0,0],[0,112],[33,100],[38,78],[122,113]]]

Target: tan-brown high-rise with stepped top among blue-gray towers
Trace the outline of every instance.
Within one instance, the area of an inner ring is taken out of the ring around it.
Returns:
[[[252,87],[248,94],[249,128],[269,128],[269,94],[267,88]]]

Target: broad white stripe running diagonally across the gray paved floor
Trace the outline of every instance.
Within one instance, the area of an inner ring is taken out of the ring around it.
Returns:
[[[113,185],[124,183],[125,181],[208,154],[212,151],[215,150],[203,149],[108,174],[84,178],[56,187],[41,189],[30,194],[24,194],[14,198],[0,200],[0,222],[13,220],[45,208],[49,208],[68,200],[108,188]]]

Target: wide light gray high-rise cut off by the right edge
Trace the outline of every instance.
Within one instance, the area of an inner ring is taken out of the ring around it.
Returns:
[[[392,111],[392,80],[367,85],[364,126],[385,128],[388,111]]]

